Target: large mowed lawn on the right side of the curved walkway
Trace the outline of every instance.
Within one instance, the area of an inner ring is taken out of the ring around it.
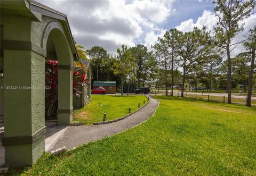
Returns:
[[[23,175],[256,175],[256,109],[156,96],[147,122],[61,156],[45,154]]]

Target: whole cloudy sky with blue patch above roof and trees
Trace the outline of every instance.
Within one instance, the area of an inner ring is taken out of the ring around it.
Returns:
[[[211,30],[217,22],[212,1],[83,1],[37,0],[67,14],[73,36],[86,49],[98,45],[109,53],[125,44],[133,47],[144,44],[151,49],[166,30],[177,28],[183,32],[204,25]],[[256,24],[256,14],[245,19],[244,33]],[[241,40],[241,37],[235,41]],[[243,51],[238,46],[233,55]]]

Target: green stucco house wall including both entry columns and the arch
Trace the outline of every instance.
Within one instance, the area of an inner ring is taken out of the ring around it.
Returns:
[[[3,49],[1,60],[4,59],[3,86],[17,87],[1,90],[4,97],[3,145],[6,166],[32,165],[45,150],[46,56],[43,38],[50,22],[56,22],[63,29],[62,21],[47,16],[42,16],[40,22],[36,18],[5,15],[1,12],[1,25],[4,29],[3,41],[1,39],[1,43],[4,44],[1,45],[1,50]],[[61,111],[58,110],[61,118],[59,121],[62,124],[69,124],[72,118],[70,107],[73,107],[71,66],[74,58],[63,30],[54,33],[53,37],[55,37],[57,57],[62,64],[62,68],[58,69],[58,88],[60,88],[58,105],[61,108]]]

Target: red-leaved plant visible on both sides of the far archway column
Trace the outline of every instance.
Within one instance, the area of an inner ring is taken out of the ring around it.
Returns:
[[[58,110],[58,61],[46,61],[45,72],[45,119],[54,120]],[[81,87],[89,86],[90,79],[84,73],[73,71],[73,93],[79,97]]]

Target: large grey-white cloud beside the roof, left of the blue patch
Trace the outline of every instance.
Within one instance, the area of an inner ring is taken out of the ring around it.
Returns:
[[[67,14],[77,43],[86,49],[99,45],[108,52],[114,52],[122,44],[135,46],[135,41],[143,40],[141,37],[150,31],[157,35],[158,26],[175,13],[174,0],[39,2]]]

